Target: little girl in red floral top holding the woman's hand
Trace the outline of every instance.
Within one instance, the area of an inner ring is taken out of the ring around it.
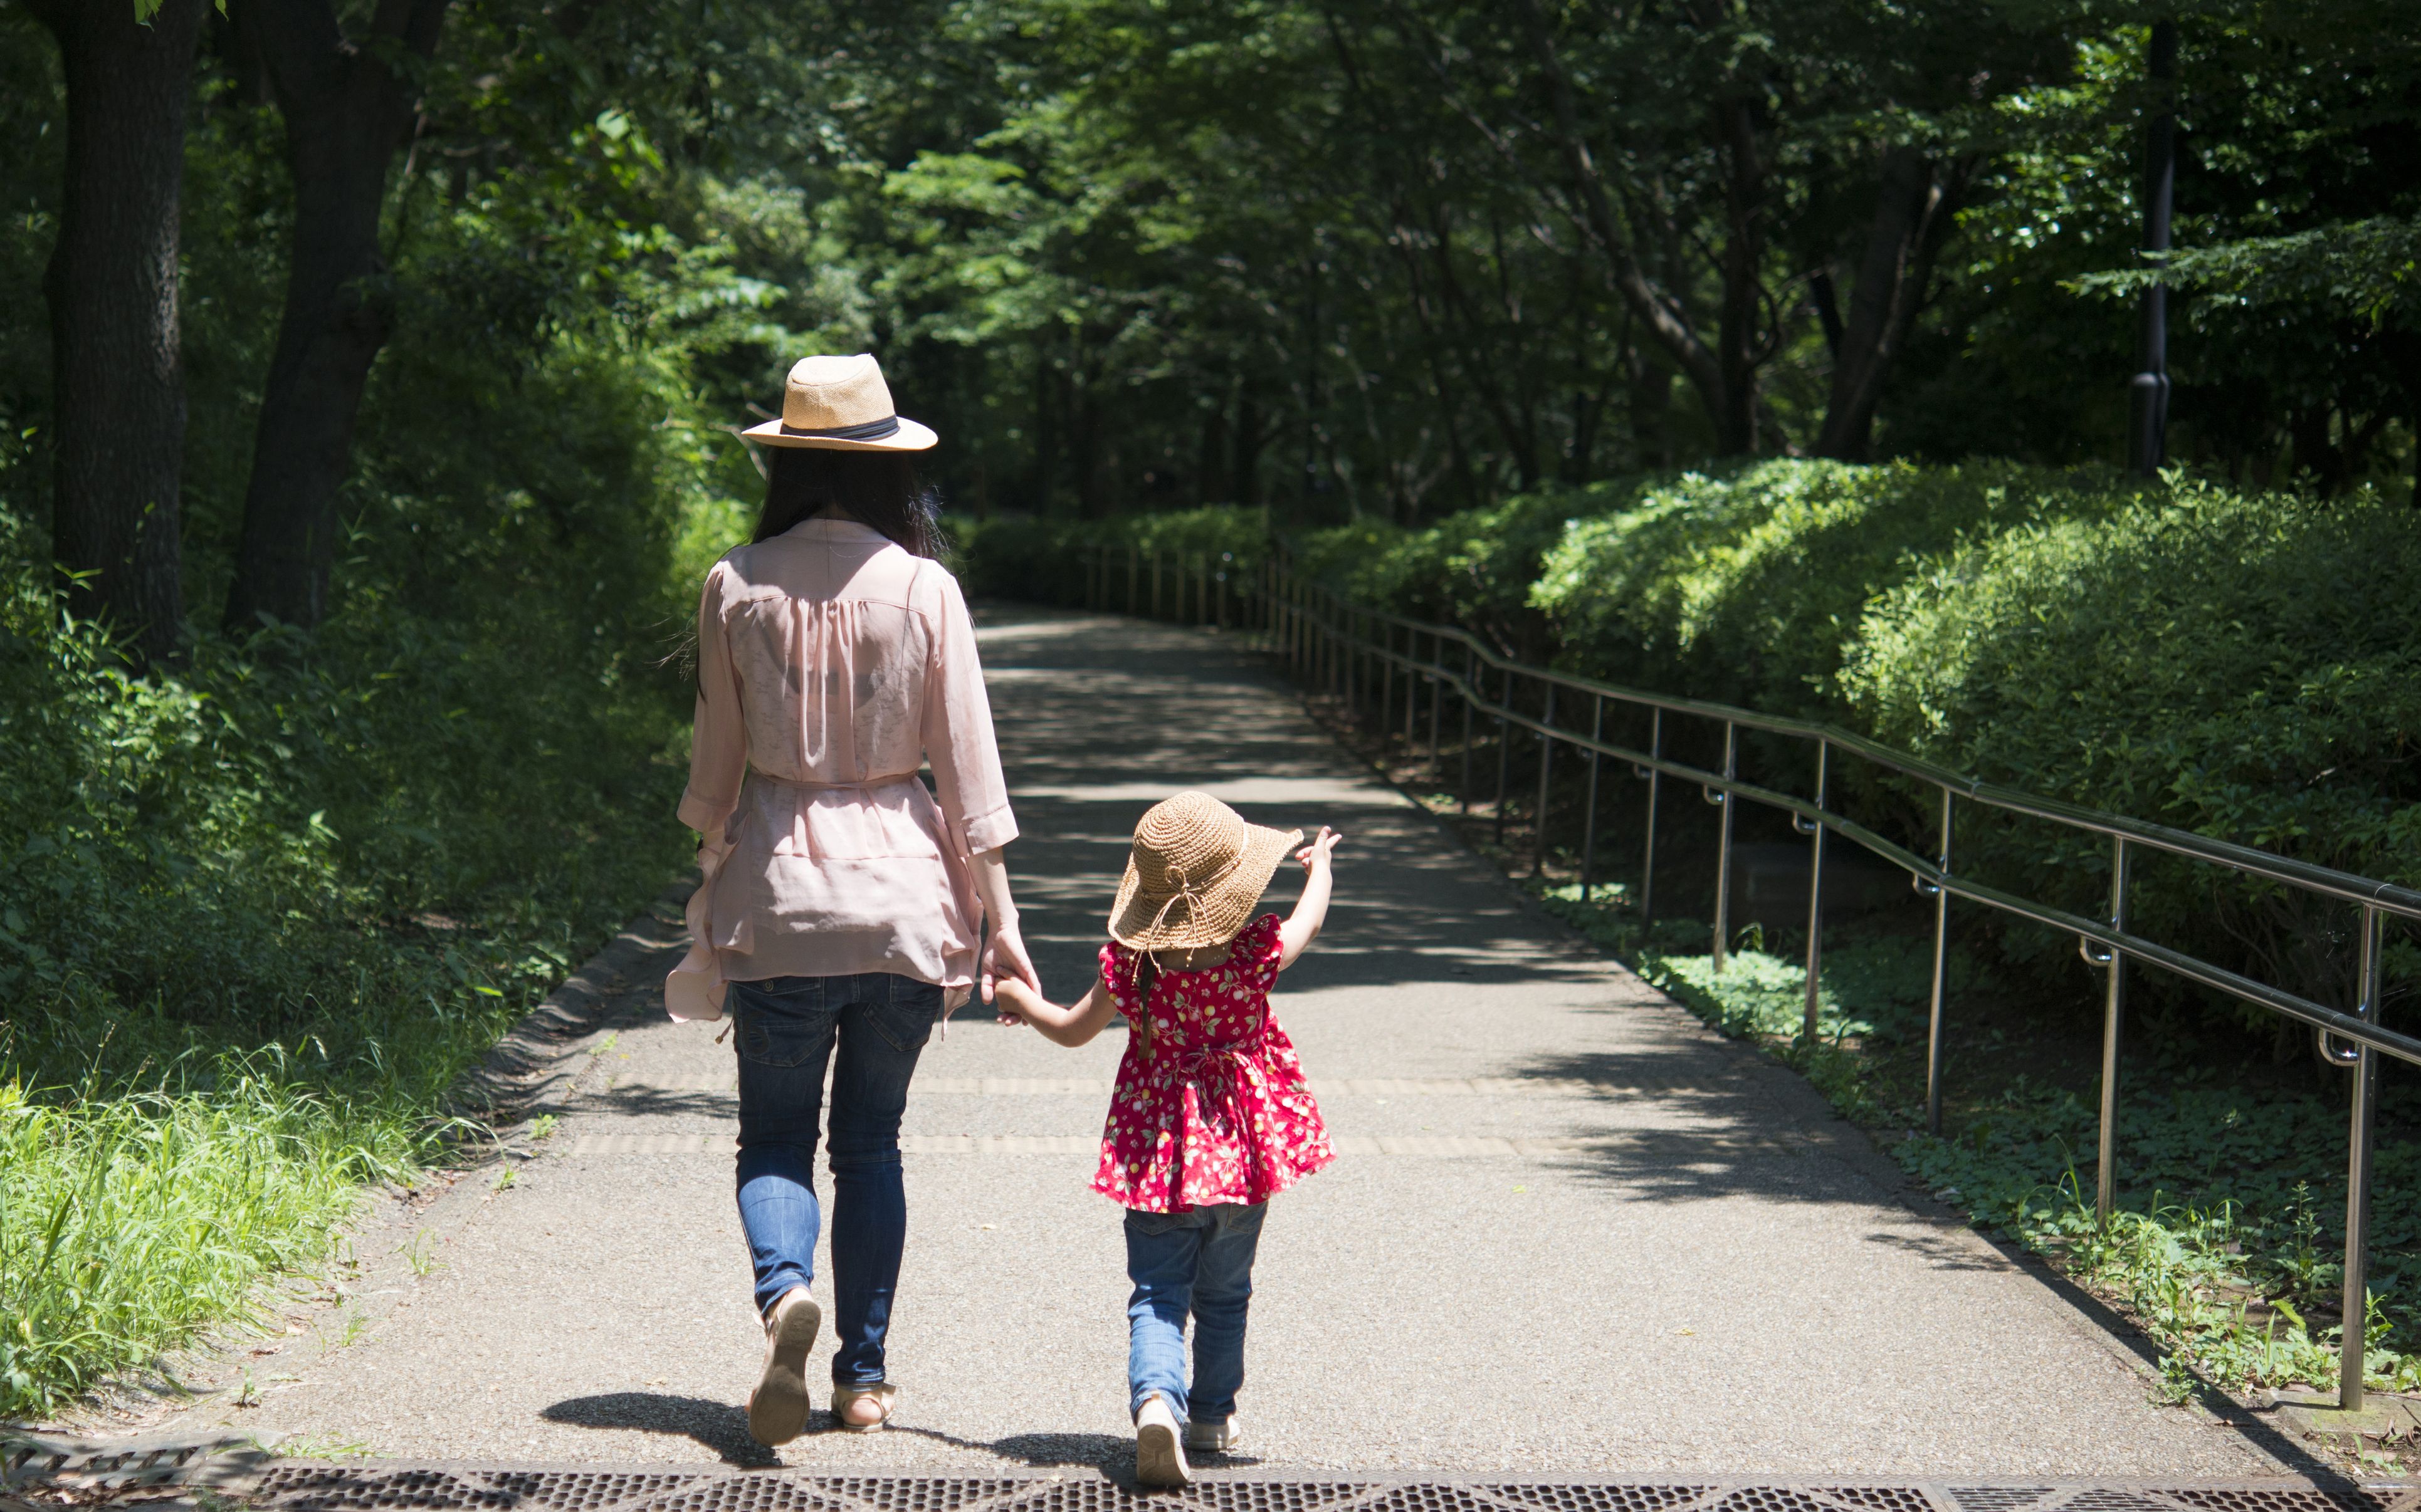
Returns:
[[[1322,827],[1295,852],[1310,876],[1283,924],[1278,914],[1252,919],[1298,839],[1302,830],[1247,825],[1208,793],[1177,793],[1135,825],[1092,989],[1058,1006],[1014,977],[997,985],[1005,1016],[1060,1045],[1102,1033],[1114,1011],[1135,1031],[1119,1060],[1092,1190],[1126,1207],[1126,1275],[1135,1282],[1126,1379],[1145,1485],[1189,1483],[1186,1449],[1237,1444],[1264,1205],[1336,1159],[1302,1062],[1269,1014],[1269,987],[1319,934],[1329,852],[1341,837]]]

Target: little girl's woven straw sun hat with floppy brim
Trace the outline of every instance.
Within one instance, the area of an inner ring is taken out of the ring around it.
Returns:
[[[1109,936],[1135,951],[1218,946],[1252,917],[1302,830],[1247,825],[1210,793],[1152,803],[1109,910]]]

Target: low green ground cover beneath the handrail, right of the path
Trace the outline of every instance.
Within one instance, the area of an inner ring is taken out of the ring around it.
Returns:
[[[1930,941],[1828,941],[1818,1038],[1801,1028],[1806,965],[1758,948],[1714,973],[1704,924],[1644,934],[1620,888],[1542,902],[1726,1035],[1804,1072],[1847,1118],[1884,1135],[1932,1195],[2043,1256],[2128,1314],[2164,1350],[2155,1396],[2201,1381],[2230,1391],[2339,1384],[2346,1113],[2317,1093],[2252,1086],[2184,1050],[2123,1067],[2118,1210],[2094,1217],[2092,1089],[2024,1072],[1959,1098],[1942,1137],[1922,1127]],[[1675,948],[1678,941],[1680,948]],[[1973,987],[1951,956],[1951,992]],[[2373,1173],[2363,1377],[2421,1389],[2421,1144],[2399,1137],[2390,1089]]]

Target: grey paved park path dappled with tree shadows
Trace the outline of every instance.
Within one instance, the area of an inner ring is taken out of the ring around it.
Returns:
[[[993,610],[981,641],[1053,994],[1089,980],[1126,835],[1169,791],[1348,837],[1329,931],[1278,997],[1341,1159],[1271,1212],[1247,1454],[1215,1464],[2281,1473],[2256,1437],[2150,1406],[2038,1272],[1903,1205],[1796,1077],[1576,951],[1235,636]],[[1271,900],[1293,888],[1288,868]],[[259,1406],[194,1418],[402,1459],[1116,1466],[1126,1280],[1085,1183],[1121,1035],[1070,1052],[968,1009],[925,1052],[896,1427],[767,1454],[738,1408],[760,1335],[731,1048],[661,1016],[673,931],[642,943],[659,953],[513,1183],[475,1178],[416,1263],[373,1265],[264,1355]]]

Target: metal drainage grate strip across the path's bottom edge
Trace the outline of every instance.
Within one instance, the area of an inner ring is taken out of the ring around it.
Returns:
[[[1198,1481],[1140,1493],[1075,1476],[797,1476],[305,1466],[247,1488],[259,1512],[2421,1512],[2409,1488],[1896,1481]]]

